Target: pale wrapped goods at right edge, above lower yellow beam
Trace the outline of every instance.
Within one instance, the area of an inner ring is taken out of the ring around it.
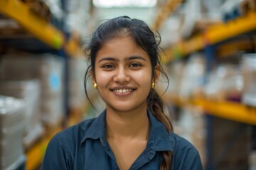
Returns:
[[[242,56],[242,78],[242,102],[249,106],[256,106],[256,54]]]

